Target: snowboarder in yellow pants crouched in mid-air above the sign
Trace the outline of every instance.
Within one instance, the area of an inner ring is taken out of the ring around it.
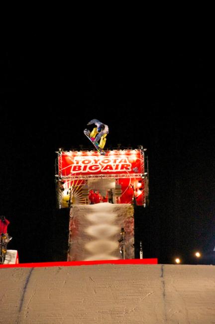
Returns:
[[[89,129],[85,129],[84,132],[90,137],[91,141],[94,142],[96,146],[103,149],[106,144],[106,136],[109,132],[108,125],[101,123],[98,119],[92,119],[89,121],[88,125],[92,124],[95,124],[97,127],[95,127],[92,132],[90,132]]]

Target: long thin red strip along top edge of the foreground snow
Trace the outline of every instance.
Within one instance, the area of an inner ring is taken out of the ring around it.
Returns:
[[[99,264],[119,265],[156,265],[158,259],[126,259],[126,260],[95,260],[95,261],[63,261],[63,262],[41,262],[41,263],[19,263],[0,265],[0,268],[38,268],[38,267],[73,267],[92,266]]]

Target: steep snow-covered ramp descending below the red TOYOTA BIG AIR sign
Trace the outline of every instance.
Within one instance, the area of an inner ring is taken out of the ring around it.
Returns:
[[[133,213],[130,204],[74,205],[70,209],[67,261],[134,259]]]

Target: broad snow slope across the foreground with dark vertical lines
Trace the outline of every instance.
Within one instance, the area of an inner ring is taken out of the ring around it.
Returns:
[[[0,323],[215,323],[215,266],[8,268],[0,278]]]

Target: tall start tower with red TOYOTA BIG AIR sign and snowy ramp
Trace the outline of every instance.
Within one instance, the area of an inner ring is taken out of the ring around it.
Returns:
[[[134,259],[133,206],[145,207],[148,199],[144,152],[142,146],[106,155],[56,152],[57,203],[70,209],[67,261]]]

